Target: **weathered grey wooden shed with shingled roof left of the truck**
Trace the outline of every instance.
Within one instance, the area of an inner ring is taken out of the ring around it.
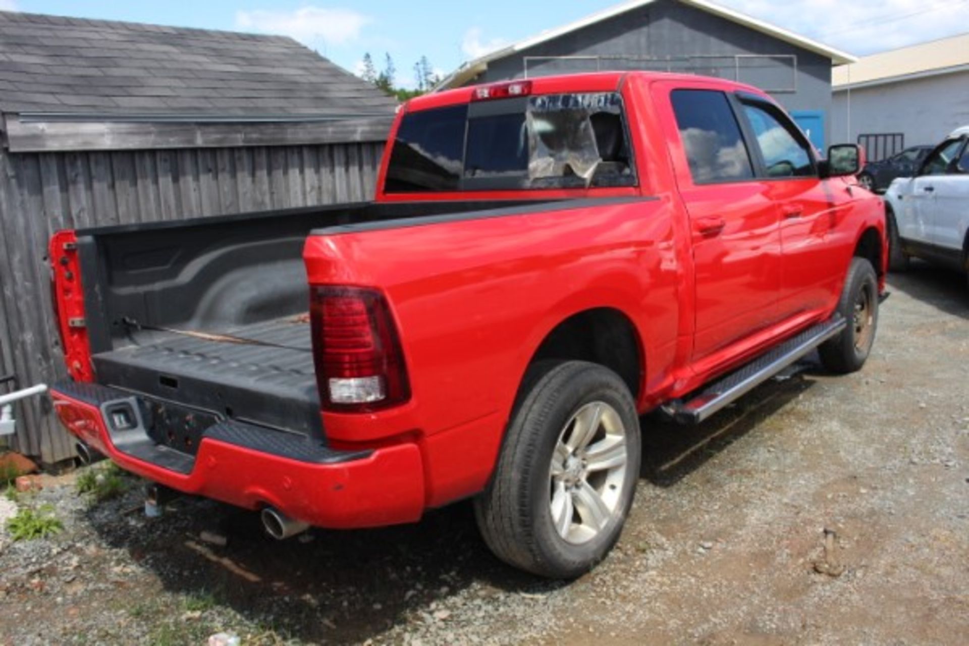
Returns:
[[[369,199],[394,108],[285,37],[0,13],[0,375],[65,376],[52,231]],[[74,456],[45,398],[16,416]]]

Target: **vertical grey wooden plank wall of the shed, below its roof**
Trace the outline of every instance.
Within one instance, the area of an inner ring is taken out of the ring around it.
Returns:
[[[383,142],[12,153],[0,150],[0,374],[65,378],[47,239],[58,229],[372,198]],[[11,446],[74,457],[46,397],[16,405]]]

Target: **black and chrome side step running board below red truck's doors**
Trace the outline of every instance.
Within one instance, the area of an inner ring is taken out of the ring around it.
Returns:
[[[681,424],[699,424],[756,386],[776,376],[828,339],[837,336],[844,330],[845,325],[844,318],[838,314],[825,323],[809,327],[796,337],[708,385],[691,399],[667,406],[665,410]]]

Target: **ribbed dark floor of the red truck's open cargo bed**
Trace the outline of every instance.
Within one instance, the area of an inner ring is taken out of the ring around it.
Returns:
[[[226,417],[319,435],[309,322],[289,316],[221,330],[263,344],[159,332],[95,354],[99,382]]]

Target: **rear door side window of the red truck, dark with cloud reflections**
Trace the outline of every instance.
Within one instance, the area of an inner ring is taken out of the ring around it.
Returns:
[[[696,184],[752,179],[754,168],[727,95],[673,90],[672,109]]]

